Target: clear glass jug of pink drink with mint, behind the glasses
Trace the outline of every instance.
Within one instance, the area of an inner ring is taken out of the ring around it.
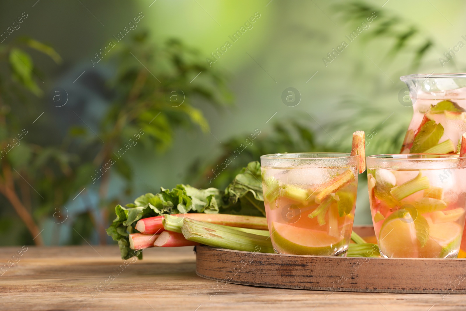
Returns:
[[[401,153],[457,153],[466,131],[466,73],[402,76],[413,117]]]

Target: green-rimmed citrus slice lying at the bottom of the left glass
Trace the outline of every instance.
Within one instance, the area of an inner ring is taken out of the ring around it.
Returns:
[[[343,236],[272,221],[272,242],[281,254],[332,256],[345,245]]]

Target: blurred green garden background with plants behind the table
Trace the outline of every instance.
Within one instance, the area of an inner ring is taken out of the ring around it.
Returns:
[[[0,244],[112,243],[116,204],[223,189],[261,154],[349,152],[356,130],[366,154],[399,152],[412,116],[399,76],[465,71],[465,13],[459,0],[1,1]],[[369,224],[359,178],[355,224]]]

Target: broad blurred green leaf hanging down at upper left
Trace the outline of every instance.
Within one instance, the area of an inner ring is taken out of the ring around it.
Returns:
[[[31,56],[20,48],[12,48],[10,51],[9,62],[14,79],[18,80],[36,96],[41,96],[42,90],[32,79],[34,64]]]

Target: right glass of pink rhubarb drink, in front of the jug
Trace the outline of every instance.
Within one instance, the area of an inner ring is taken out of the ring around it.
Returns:
[[[466,158],[367,157],[372,222],[388,258],[456,258],[465,224]]]

